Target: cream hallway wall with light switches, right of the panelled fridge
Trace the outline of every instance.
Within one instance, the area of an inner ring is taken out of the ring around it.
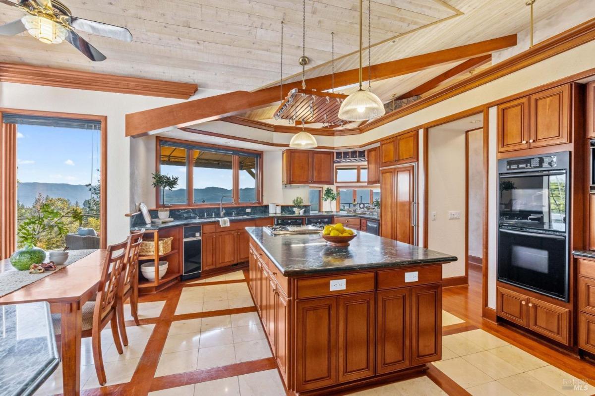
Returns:
[[[461,218],[449,219],[449,211],[461,212]],[[430,128],[428,249],[459,259],[443,265],[443,278],[465,275],[465,222],[465,130],[448,125]]]

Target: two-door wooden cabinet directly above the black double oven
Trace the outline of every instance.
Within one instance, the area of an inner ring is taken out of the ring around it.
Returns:
[[[570,142],[571,85],[497,106],[498,152]]]

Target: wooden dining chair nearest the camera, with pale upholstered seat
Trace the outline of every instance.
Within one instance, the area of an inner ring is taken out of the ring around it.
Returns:
[[[123,243],[108,246],[95,301],[87,301],[82,307],[83,331],[81,337],[92,338],[93,362],[95,363],[95,372],[97,373],[100,385],[105,385],[107,382],[104,360],[101,354],[101,331],[108,323],[111,324],[116,350],[119,354],[124,353],[120,342],[120,334],[118,333],[115,300],[118,286],[120,285],[122,270],[126,265],[129,239]],[[52,322],[54,322],[55,334],[59,335],[61,333],[61,317],[59,313],[52,315]]]

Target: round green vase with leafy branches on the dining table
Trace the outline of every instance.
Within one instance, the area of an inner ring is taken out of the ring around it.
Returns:
[[[45,250],[36,246],[40,238],[56,231],[64,237],[68,233],[65,222],[67,218],[79,224],[83,222],[83,211],[78,207],[61,213],[52,208],[49,203],[42,202],[34,209],[33,215],[18,226],[17,236],[24,246],[23,249],[17,250],[10,256],[10,263],[20,271],[29,269],[33,263],[42,263],[45,260]]]

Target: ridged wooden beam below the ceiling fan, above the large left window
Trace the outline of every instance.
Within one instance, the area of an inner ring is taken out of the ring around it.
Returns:
[[[189,99],[198,89],[196,84],[11,63],[0,63],[0,81],[176,99]]]

